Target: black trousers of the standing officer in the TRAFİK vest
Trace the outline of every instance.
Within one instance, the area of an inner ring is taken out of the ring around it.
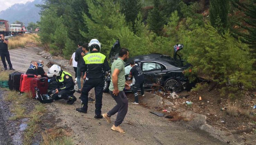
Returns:
[[[104,87],[103,77],[95,78],[95,79],[86,78],[83,83],[83,88],[81,93],[82,105],[88,106],[88,93],[92,88],[94,88],[96,115],[101,115],[103,87]]]

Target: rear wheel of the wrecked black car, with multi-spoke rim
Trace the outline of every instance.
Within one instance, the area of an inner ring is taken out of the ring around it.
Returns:
[[[182,86],[181,86],[180,81],[170,78],[164,82],[164,89],[177,93],[177,92],[182,91]]]

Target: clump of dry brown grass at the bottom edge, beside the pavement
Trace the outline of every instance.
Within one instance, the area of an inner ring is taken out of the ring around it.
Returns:
[[[54,127],[42,133],[43,142],[42,145],[72,145],[72,140],[67,138],[71,136],[70,130],[62,127]]]

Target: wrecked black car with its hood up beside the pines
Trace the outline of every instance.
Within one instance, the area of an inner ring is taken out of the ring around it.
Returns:
[[[118,58],[120,49],[120,42],[117,40],[109,54],[111,64]],[[126,83],[132,85],[134,83],[133,81],[135,81],[128,77],[131,69],[129,62],[130,60],[134,60],[135,65],[140,66],[143,71],[145,77],[144,90],[164,89],[165,91],[171,92],[180,92],[184,89],[190,90],[194,87],[195,83],[203,79],[197,79],[190,83],[189,79],[184,76],[184,70],[192,65],[183,65],[185,61],[177,54],[182,49],[182,44],[175,45],[173,57],[162,54],[148,54],[129,58],[125,64]],[[109,84],[110,74],[105,78],[104,91],[108,90]],[[132,91],[132,87],[124,91]]]

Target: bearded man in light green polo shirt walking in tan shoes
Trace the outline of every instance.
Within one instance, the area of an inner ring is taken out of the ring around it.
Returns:
[[[108,113],[102,114],[102,116],[107,119],[107,122],[111,123],[110,117],[118,113],[115,124],[111,127],[111,129],[120,133],[125,133],[125,131],[119,125],[123,122],[128,111],[128,99],[124,92],[125,87],[130,89],[129,85],[125,83],[125,61],[127,61],[128,58],[128,49],[122,48],[119,51],[119,57],[111,66],[109,93],[115,99],[117,105]]]

